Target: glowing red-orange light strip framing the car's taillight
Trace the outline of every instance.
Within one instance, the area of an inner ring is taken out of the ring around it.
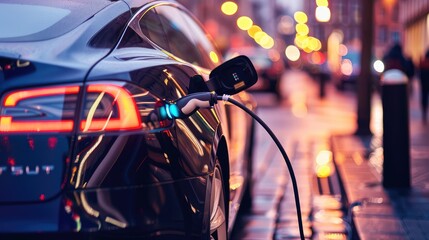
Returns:
[[[77,95],[79,89],[79,86],[60,86],[16,91],[6,95],[2,107],[13,108],[17,106],[19,101],[31,98],[54,95]],[[108,94],[112,96],[114,99],[112,105],[117,106],[118,117],[94,119],[93,114],[89,113],[86,119],[81,120],[79,124],[80,131],[123,131],[137,130],[142,127],[136,103],[125,88],[114,84],[91,84],[86,89],[88,93],[99,93],[101,96]],[[97,102],[93,104],[97,104]],[[94,106],[93,109],[96,109],[96,107]],[[0,133],[71,132],[73,128],[73,119],[16,120],[13,116],[0,116]]]

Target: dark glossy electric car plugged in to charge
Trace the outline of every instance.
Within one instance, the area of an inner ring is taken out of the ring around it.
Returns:
[[[166,107],[220,56],[174,1],[1,0],[0,239],[227,239],[253,121]]]

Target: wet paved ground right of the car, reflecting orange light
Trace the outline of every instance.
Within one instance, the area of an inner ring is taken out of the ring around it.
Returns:
[[[420,121],[418,94],[410,98],[409,191],[384,189],[382,107],[372,99],[373,136],[359,137],[354,92],[330,85],[319,98],[316,82],[292,72],[286,98],[257,94],[258,115],[291,159],[298,182],[306,239],[429,239],[429,125]],[[284,159],[257,128],[254,200],[232,239],[299,239],[295,201]]]

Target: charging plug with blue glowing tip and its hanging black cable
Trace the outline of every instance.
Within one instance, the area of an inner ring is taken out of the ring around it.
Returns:
[[[252,116],[264,129],[267,131],[267,133],[270,135],[270,137],[273,139],[275,144],[277,145],[277,148],[280,150],[287,168],[289,170],[290,178],[292,181],[292,187],[293,192],[295,196],[295,205],[296,205],[296,213],[298,217],[298,227],[299,227],[299,234],[302,240],[304,240],[304,228],[302,224],[302,215],[301,215],[301,206],[299,202],[299,194],[298,194],[298,184],[296,182],[295,173],[292,168],[291,161],[289,157],[286,154],[285,149],[283,148],[282,144],[276,137],[276,135],[273,133],[273,131],[268,127],[268,125],[262,121],[261,118],[258,117],[255,113],[253,113],[250,109],[248,109],[246,106],[241,104],[240,102],[234,100],[231,98],[230,95],[224,94],[223,96],[217,96],[214,92],[199,92],[199,93],[192,93],[189,94],[183,98],[178,99],[173,104],[168,104],[165,106],[165,112],[168,113],[168,118],[184,118],[187,116],[190,116],[195,111],[197,111],[199,108],[209,108],[214,106],[214,104],[217,103],[217,100],[221,101],[227,101],[230,102],[237,107],[244,110],[246,113],[248,113],[250,116]],[[164,112],[164,111],[162,111]],[[161,115],[163,115],[161,113]],[[162,117],[162,116],[161,116]]]

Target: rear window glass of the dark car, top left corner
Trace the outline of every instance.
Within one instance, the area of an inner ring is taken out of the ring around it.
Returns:
[[[0,0],[0,42],[61,36],[113,4],[110,0]]]

